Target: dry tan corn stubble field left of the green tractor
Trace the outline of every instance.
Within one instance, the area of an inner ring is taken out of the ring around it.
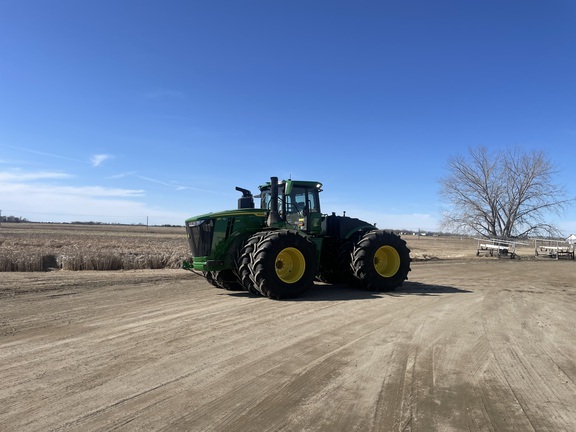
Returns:
[[[183,227],[2,223],[0,271],[179,268]]]

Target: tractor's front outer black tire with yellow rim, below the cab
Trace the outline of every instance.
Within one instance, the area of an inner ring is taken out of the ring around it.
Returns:
[[[298,297],[314,284],[316,260],[316,247],[306,237],[288,230],[272,231],[252,253],[252,280],[263,296]]]

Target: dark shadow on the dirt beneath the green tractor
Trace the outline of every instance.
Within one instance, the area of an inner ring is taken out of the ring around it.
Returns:
[[[390,292],[366,291],[343,284],[328,284],[315,282],[314,287],[306,292],[302,297],[294,299],[283,299],[278,301],[286,302],[311,302],[311,301],[345,301],[345,300],[370,300],[386,297],[403,296],[439,296],[443,294],[466,294],[472,293],[465,289],[451,287],[447,285],[431,285],[420,282],[405,282],[402,287]],[[237,297],[262,298],[248,292],[229,292],[228,295]]]

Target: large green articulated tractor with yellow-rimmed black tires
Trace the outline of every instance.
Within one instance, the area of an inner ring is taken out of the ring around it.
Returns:
[[[392,291],[410,271],[399,236],[346,215],[322,214],[322,184],[272,177],[259,187],[260,206],[240,187],[238,209],[186,220],[192,260],[212,285],[273,299],[302,295],[318,279]]]

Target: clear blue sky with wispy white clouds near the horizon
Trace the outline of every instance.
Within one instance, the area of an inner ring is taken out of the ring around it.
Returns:
[[[181,224],[278,176],[436,230],[469,147],[576,196],[575,121],[572,0],[0,0],[3,215]]]

